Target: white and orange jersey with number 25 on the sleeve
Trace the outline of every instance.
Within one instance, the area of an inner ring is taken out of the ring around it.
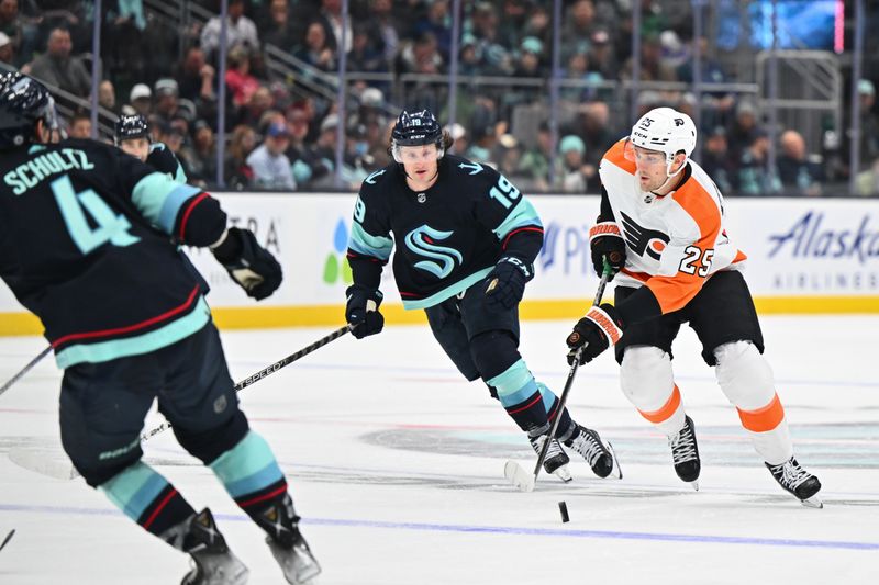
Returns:
[[[723,198],[702,167],[688,161],[681,171],[682,184],[657,196],[641,190],[635,162],[624,156],[625,142],[613,145],[599,167],[603,191],[626,243],[625,268],[615,282],[646,285],[663,314],[678,311],[711,274],[738,269],[746,256],[724,228]]]

